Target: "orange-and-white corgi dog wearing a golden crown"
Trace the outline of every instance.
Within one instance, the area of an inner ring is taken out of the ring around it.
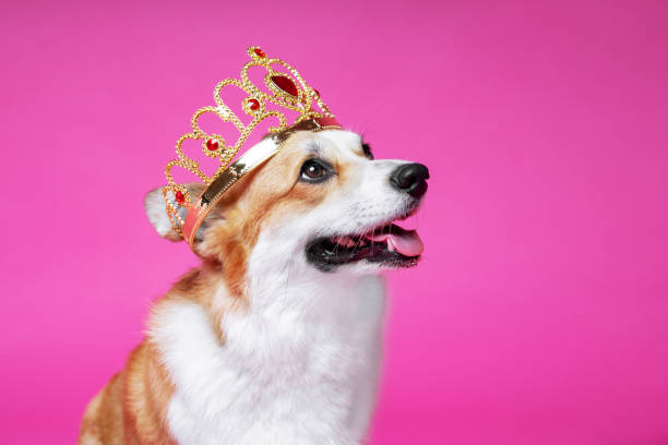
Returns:
[[[363,443],[381,272],[420,260],[416,231],[394,222],[417,212],[428,178],[421,164],[374,160],[350,131],[287,136],[203,221],[201,266],[152,304],[145,339],[87,406],[79,443]],[[162,237],[181,240],[160,190],[145,208]]]

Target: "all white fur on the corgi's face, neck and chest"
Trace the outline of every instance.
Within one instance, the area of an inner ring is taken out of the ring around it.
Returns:
[[[381,360],[384,282],[371,264],[320,272],[303,251],[314,236],[365,231],[395,216],[404,197],[387,177],[399,161],[354,154],[354,133],[323,132],[318,145],[323,156],[348,157],[356,179],[305,214],[262,228],[248,265],[250,310],[226,314],[226,344],[195,303],[172,304],[154,320],[151,336],[176,388],[169,429],[180,444],[363,440]]]

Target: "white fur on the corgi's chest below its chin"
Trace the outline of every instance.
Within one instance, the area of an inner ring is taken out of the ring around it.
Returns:
[[[168,423],[178,443],[362,438],[374,404],[384,286],[375,276],[301,272],[253,281],[251,310],[224,320],[225,345],[195,303],[172,304],[160,316],[153,337],[175,383]]]

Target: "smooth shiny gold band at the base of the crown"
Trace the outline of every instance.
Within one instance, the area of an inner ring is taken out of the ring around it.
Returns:
[[[283,143],[288,140],[290,134],[297,131],[323,131],[337,130],[342,125],[334,118],[315,118],[298,122],[281,133],[272,135],[273,144],[258,144],[246,152],[231,166],[220,175],[204,190],[195,205],[193,205],[186,216],[182,231],[183,238],[192,246],[195,234],[208,213],[220,201],[223,195],[229,191],[239,179],[260,167],[281,149]]]

